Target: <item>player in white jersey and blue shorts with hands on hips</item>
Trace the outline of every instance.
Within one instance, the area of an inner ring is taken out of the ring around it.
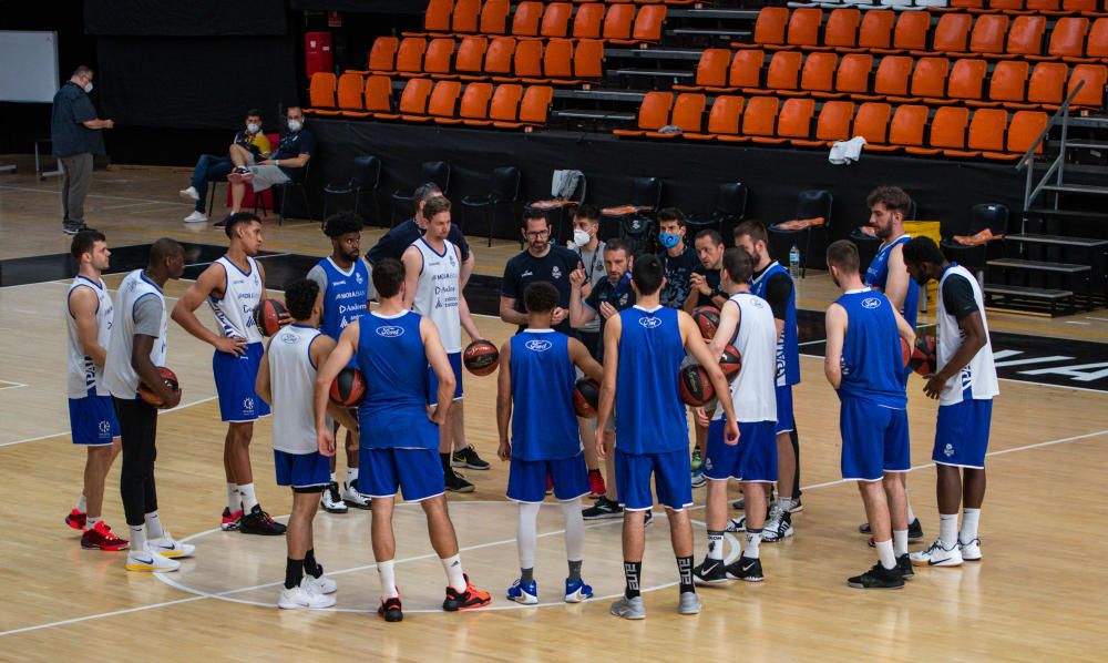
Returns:
[[[269,415],[254,384],[261,364],[261,333],[254,310],[265,297],[266,273],[254,259],[261,249],[261,220],[237,213],[227,218],[224,232],[230,245],[185,290],[173,307],[173,319],[196,338],[212,345],[212,373],[219,394],[219,415],[227,422],[223,467],[227,477],[227,507],[219,527],[244,534],[284,534],[285,526],[261,510],[254,492],[250,439],[254,421]],[[196,317],[207,300],[219,327],[215,334]]]

